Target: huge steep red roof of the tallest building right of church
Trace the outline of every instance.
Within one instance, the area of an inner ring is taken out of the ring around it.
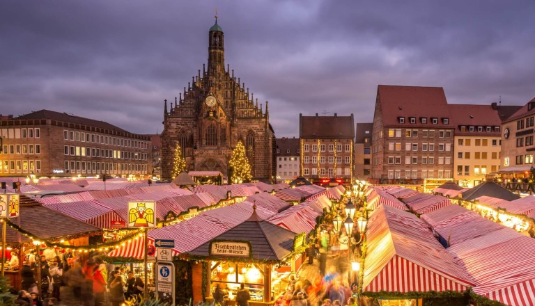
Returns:
[[[383,125],[399,126],[398,117],[405,118],[407,127],[428,127],[429,118],[451,118],[449,106],[442,87],[421,86],[391,86],[379,85],[377,97],[382,110]],[[410,124],[408,117],[416,117],[416,124]],[[422,124],[419,118],[428,118],[427,124]],[[433,127],[453,127],[443,124],[442,120]]]

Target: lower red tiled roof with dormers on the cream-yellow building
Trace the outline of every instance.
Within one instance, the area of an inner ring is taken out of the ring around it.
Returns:
[[[500,131],[495,131],[494,127],[499,127],[502,120],[499,119],[498,112],[493,109],[491,105],[474,105],[474,104],[450,104],[449,105],[451,119],[450,122],[456,127],[455,134],[462,134],[460,126],[466,127],[493,127],[492,131],[488,132],[483,129],[482,132],[467,131],[470,135],[500,135]]]

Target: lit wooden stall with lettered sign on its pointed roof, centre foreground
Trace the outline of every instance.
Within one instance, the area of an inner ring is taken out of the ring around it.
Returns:
[[[229,292],[226,305],[233,305],[240,283],[244,283],[251,293],[249,305],[254,305],[284,293],[287,277],[295,273],[294,255],[304,251],[304,239],[304,233],[295,234],[263,220],[254,206],[247,220],[181,257],[201,261],[204,272],[193,275],[193,287],[201,287],[205,300],[212,299],[215,287],[222,287]],[[277,268],[287,261],[290,268]],[[198,294],[194,293],[194,300],[199,300]]]

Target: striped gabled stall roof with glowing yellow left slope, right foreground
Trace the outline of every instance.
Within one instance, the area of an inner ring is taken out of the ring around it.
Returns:
[[[474,284],[413,214],[380,206],[366,233],[364,291],[465,291]]]

